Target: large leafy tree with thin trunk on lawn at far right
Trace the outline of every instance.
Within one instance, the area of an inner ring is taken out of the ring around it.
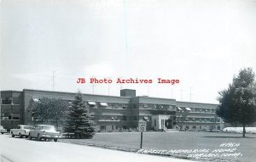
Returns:
[[[240,70],[239,75],[234,76],[228,89],[219,92],[219,106],[217,115],[224,122],[232,126],[245,126],[256,121],[256,83],[255,74],[251,68]]]

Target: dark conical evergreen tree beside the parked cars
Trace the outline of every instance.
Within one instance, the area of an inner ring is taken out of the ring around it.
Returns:
[[[92,138],[95,135],[94,125],[82,94],[79,92],[68,114],[65,131],[74,133],[75,138]]]

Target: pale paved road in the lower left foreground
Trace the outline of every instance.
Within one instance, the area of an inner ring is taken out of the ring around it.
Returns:
[[[1,162],[189,162],[147,154],[134,154],[64,142],[38,142],[0,135]]]

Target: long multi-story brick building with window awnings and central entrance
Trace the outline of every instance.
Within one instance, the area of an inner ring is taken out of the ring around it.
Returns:
[[[2,91],[0,122],[7,129],[19,124],[33,124],[32,102],[40,98],[61,98],[72,102],[76,93],[24,89]],[[98,131],[137,129],[139,120],[147,121],[147,130],[210,131],[222,129],[215,115],[217,104],[179,102],[170,98],[136,96],[136,91],[123,89],[120,96],[82,94],[96,121]]]

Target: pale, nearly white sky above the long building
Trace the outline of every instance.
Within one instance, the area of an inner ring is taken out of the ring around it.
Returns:
[[[254,0],[0,2],[0,90],[119,96],[129,88],[137,96],[218,103],[239,70],[256,71]]]

